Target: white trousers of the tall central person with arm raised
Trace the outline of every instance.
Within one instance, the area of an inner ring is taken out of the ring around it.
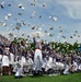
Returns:
[[[40,49],[35,49],[33,70],[40,71],[43,65],[43,55]]]

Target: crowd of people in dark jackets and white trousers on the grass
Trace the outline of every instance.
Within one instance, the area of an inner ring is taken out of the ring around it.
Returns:
[[[15,38],[16,39],[16,38]],[[81,55],[59,54],[50,44],[35,40],[35,49],[24,40],[18,44],[0,38],[0,75],[14,74],[15,78],[33,74],[69,74],[81,71]]]

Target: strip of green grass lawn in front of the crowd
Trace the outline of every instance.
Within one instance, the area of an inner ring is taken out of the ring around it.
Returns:
[[[2,75],[0,82],[81,82],[81,73],[73,73],[69,75],[54,75],[54,77],[24,77],[14,79],[14,75]]]

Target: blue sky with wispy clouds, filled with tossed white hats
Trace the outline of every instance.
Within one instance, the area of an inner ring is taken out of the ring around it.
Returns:
[[[81,43],[81,0],[0,0],[0,34]]]

